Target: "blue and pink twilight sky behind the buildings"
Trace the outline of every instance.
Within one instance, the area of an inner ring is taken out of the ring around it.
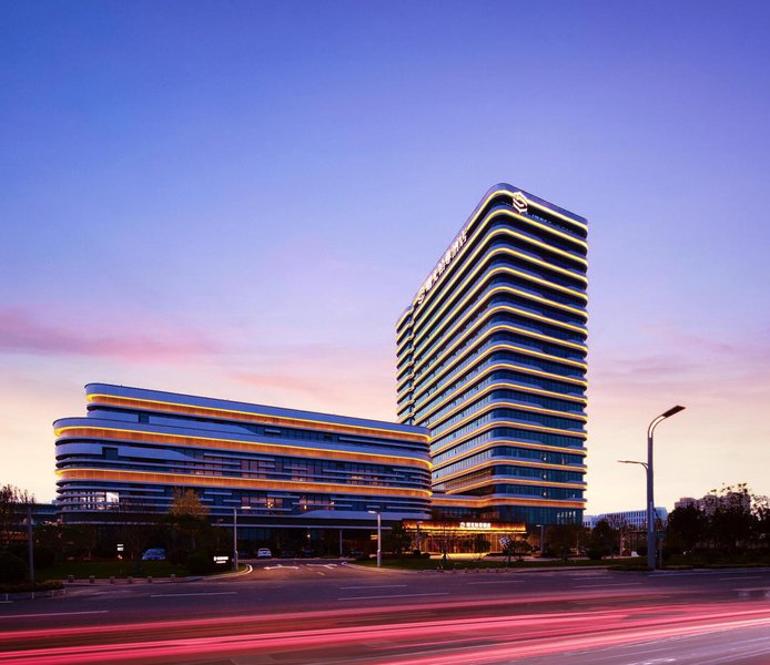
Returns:
[[[485,191],[589,221],[587,513],[770,494],[767,2],[0,3],[0,484],[91,381],[395,419]]]

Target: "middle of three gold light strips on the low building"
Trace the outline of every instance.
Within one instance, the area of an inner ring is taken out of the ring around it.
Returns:
[[[261,441],[231,441],[230,439],[216,439],[209,437],[186,437],[182,434],[168,434],[160,432],[139,432],[118,428],[104,428],[95,426],[68,426],[54,431],[57,437],[67,434],[70,438],[108,439],[111,441],[138,441],[143,443],[170,443],[172,446],[188,446],[192,448],[212,448],[216,450],[241,450],[253,453],[281,454],[286,457],[301,457],[318,459],[321,456],[336,460],[349,460],[355,462],[376,462],[388,466],[422,467],[430,469],[430,462],[419,458],[394,457],[368,452],[351,452],[327,448],[311,448],[304,446],[283,446],[280,443],[263,443]]]

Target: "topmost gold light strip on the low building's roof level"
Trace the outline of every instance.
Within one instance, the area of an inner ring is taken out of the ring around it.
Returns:
[[[262,424],[271,424],[276,427],[294,427],[304,429],[321,430],[324,432],[351,433],[361,436],[362,433],[372,432],[373,436],[383,439],[397,439],[404,441],[426,441],[427,434],[417,434],[411,432],[394,432],[391,430],[378,429],[373,427],[363,427],[357,424],[340,424],[326,422],[323,420],[310,420],[304,418],[293,418],[285,416],[266,416],[263,413],[251,413],[249,411],[239,411],[234,409],[221,409],[214,407],[194,407],[191,405],[182,405],[170,401],[158,401],[152,399],[141,399],[138,397],[122,397],[115,395],[90,393],[87,395],[87,400],[92,403],[105,406],[124,406],[129,408],[149,408],[155,411],[168,411],[172,413],[190,413],[194,416],[222,417],[227,413],[229,418],[234,420],[243,420],[246,422],[260,422]],[[237,416],[234,418],[232,415]],[[376,433],[375,433],[376,432]]]

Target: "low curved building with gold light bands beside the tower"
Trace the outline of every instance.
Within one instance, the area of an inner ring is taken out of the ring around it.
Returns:
[[[69,522],[168,512],[175,488],[212,519],[247,509],[265,525],[429,516],[424,428],[103,383],[87,401],[54,423]]]

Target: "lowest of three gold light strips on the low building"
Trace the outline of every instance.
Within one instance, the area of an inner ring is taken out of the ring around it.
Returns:
[[[122,482],[152,482],[172,485],[226,487],[254,490],[286,490],[292,492],[357,493],[385,497],[409,497],[428,499],[429,490],[388,488],[356,484],[332,484],[320,482],[295,482],[288,480],[262,480],[255,478],[231,478],[225,475],[188,475],[186,473],[154,473],[146,471],[115,471],[110,469],[59,469],[57,474],[64,480],[111,480]]]

